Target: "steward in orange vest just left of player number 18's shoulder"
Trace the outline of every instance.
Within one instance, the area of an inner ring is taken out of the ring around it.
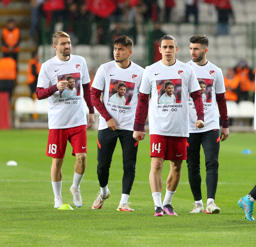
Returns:
[[[28,85],[31,90],[31,97],[34,98],[34,94],[36,93],[36,85],[37,85],[37,79],[38,74],[41,68],[41,64],[38,61],[39,55],[37,52],[32,53],[32,57],[28,62],[28,69],[27,69],[27,75],[28,75]]]

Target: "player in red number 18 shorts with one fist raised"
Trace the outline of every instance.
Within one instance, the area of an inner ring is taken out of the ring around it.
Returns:
[[[74,179],[70,188],[73,201],[76,207],[82,206],[80,194],[80,183],[84,176],[86,167],[86,128],[92,127],[94,123],[94,109],[91,101],[90,77],[85,59],[72,55],[71,41],[68,34],[57,32],[53,36],[53,48],[56,56],[42,64],[38,76],[36,96],[38,99],[49,99],[48,126],[49,137],[46,155],[52,157],[52,188],[54,193],[54,208],[63,205],[61,197],[63,158],[66,151],[67,142],[73,147],[72,155],[76,156],[74,167]],[[60,90],[68,88],[68,81],[58,80],[66,78],[67,74],[80,73],[81,93],[64,101],[60,98]],[[89,108],[88,124],[84,99]],[[86,127],[87,124],[87,127]]]

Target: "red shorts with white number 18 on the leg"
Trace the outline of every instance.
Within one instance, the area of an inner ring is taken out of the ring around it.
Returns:
[[[67,129],[49,129],[46,155],[52,158],[64,158],[68,141],[75,156],[87,152],[86,125]]]

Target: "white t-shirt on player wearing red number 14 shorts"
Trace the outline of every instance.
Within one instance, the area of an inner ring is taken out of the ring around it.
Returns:
[[[175,104],[157,103],[165,81],[174,84]],[[151,93],[148,112],[149,135],[188,137],[188,93],[197,90],[200,90],[200,85],[190,65],[176,59],[172,66],[164,65],[162,60],[147,66],[140,92]]]

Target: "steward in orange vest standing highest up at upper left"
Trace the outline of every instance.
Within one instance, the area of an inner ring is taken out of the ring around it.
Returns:
[[[20,51],[20,29],[16,27],[13,19],[9,19],[7,27],[4,27],[1,34],[2,47],[1,50],[8,57],[18,59],[18,52]]]

